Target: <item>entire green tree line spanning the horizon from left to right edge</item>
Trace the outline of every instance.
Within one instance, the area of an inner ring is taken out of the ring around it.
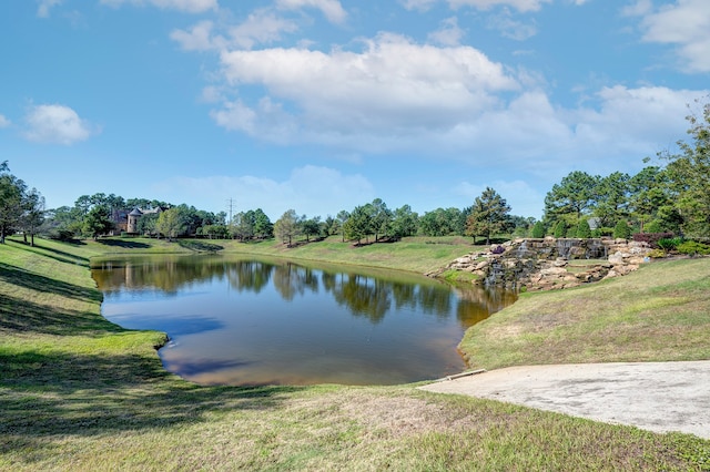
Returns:
[[[699,103],[699,102],[698,102]],[[298,215],[287,209],[272,223],[261,209],[240,212],[227,220],[224,212],[211,213],[186,204],[130,198],[102,193],[80,196],[72,207],[44,209],[36,188],[0,164],[0,242],[21,232],[54,238],[99,237],[115,233],[116,223],[131,208],[154,209],[141,216],[136,233],[153,237],[183,236],[276,238],[293,245],[339,235],[357,245],[397,240],[407,236],[473,236],[487,244],[497,236],[518,237],[629,237],[632,233],[673,233],[710,237],[710,103],[687,117],[689,141],[679,141],[677,153],[659,153],[658,164],[636,175],[615,172],[607,176],[574,171],[555,184],[545,197],[544,216],[510,215],[510,206],[487,187],[464,208],[436,208],[423,215],[409,205],[390,209],[381,198],[341,211],[337,215]],[[650,160],[645,160],[648,163]],[[123,212],[123,213],[121,213]]]

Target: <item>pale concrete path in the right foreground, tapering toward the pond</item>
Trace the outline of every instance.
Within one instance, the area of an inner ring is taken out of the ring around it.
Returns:
[[[510,367],[420,389],[710,439],[710,361]]]

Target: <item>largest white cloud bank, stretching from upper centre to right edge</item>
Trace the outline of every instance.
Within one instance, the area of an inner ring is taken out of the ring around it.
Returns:
[[[428,155],[480,168],[496,156],[496,165],[538,177],[576,165],[604,173],[618,170],[619,160],[640,163],[660,151],[659,140],[672,145],[683,135],[686,104],[708,93],[616,86],[565,109],[539,79],[513,75],[470,47],[417,44],[394,34],[364,44],[356,52],[223,52],[222,86],[241,99],[223,100],[212,117],[282,145]],[[254,85],[264,90],[261,99],[240,95]]]

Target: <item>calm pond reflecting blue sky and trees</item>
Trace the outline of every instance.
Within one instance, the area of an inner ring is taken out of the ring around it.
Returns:
[[[464,331],[510,291],[407,273],[225,256],[101,259],[103,316],[168,332],[165,369],[202,384],[397,384],[458,373]]]

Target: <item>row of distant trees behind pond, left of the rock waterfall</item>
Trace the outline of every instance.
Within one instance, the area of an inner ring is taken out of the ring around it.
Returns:
[[[212,213],[186,204],[172,205],[146,198],[125,199],[114,194],[82,195],[73,206],[44,211],[43,198],[36,191],[27,191],[24,183],[9,173],[3,163],[2,191],[17,194],[0,199],[2,235],[21,232],[26,235],[42,234],[57,239],[75,237],[98,238],[118,234],[119,220],[124,226],[131,208],[149,209],[138,218],[136,234],[150,237],[204,237],[233,238],[243,242],[277,238],[292,245],[327,236],[341,235],[342,239],[361,245],[369,242],[398,240],[406,236],[481,236],[487,240],[496,234],[513,228],[527,227],[534,218],[509,215],[510,207],[493,188],[487,188],[474,206],[463,209],[437,208],[418,215],[409,205],[389,209],[375,198],[352,211],[341,211],[336,216],[298,215],[286,211],[272,223],[261,209],[239,212],[227,220],[224,212]],[[10,192],[11,191],[11,192]]]

